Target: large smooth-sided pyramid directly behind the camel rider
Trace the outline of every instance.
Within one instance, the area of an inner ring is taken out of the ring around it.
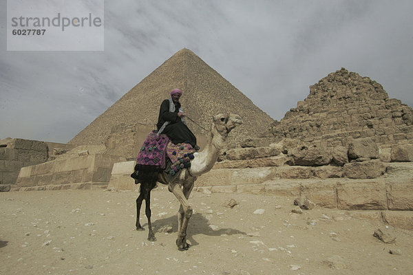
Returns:
[[[112,127],[122,123],[156,124],[160,103],[169,98],[173,88],[183,91],[181,102],[185,113],[204,129],[209,129],[212,116],[218,113],[241,115],[244,124],[231,133],[236,141],[257,137],[274,121],[191,50],[182,49],[99,115],[69,144],[103,144]],[[208,134],[187,121],[195,135]]]

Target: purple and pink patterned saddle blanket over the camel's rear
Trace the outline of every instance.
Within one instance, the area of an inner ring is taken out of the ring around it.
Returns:
[[[165,170],[166,148],[169,143],[167,135],[149,133],[138,153],[135,170]]]

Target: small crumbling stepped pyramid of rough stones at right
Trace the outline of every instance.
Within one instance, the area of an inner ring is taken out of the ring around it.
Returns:
[[[267,136],[346,145],[346,138],[372,137],[381,147],[413,142],[413,110],[388,98],[368,77],[341,68],[310,86],[297,108],[274,122]]]

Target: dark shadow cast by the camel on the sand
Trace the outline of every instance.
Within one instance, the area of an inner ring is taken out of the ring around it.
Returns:
[[[233,235],[233,234],[243,234],[246,235],[245,232],[240,230],[232,229],[232,228],[221,228],[219,230],[212,230],[209,227],[210,223],[201,213],[195,213],[192,215],[191,219],[189,220],[189,225],[187,228],[187,239],[191,242],[191,245],[198,245],[199,243],[193,239],[194,235],[197,234],[204,234],[208,236],[221,236],[223,234],[226,235]],[[145,229],[147,229],[147,223],[144,225]],[[152,222],[153,232],[155,234],[162,234],[160,230],[165,226],[171,226],[173,232],[178,232],[178,216],[174,215],[172,217],[168,217],[165,219],[158,219]],[[146,231],[146,230],[145,230]]]

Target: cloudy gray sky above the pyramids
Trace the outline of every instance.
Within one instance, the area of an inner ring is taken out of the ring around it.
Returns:
[[[413,106],[413,1],[105,1],[104,52],[7,52],[0,139],[68,142],[187,47],[281,120],[345,67]]]

